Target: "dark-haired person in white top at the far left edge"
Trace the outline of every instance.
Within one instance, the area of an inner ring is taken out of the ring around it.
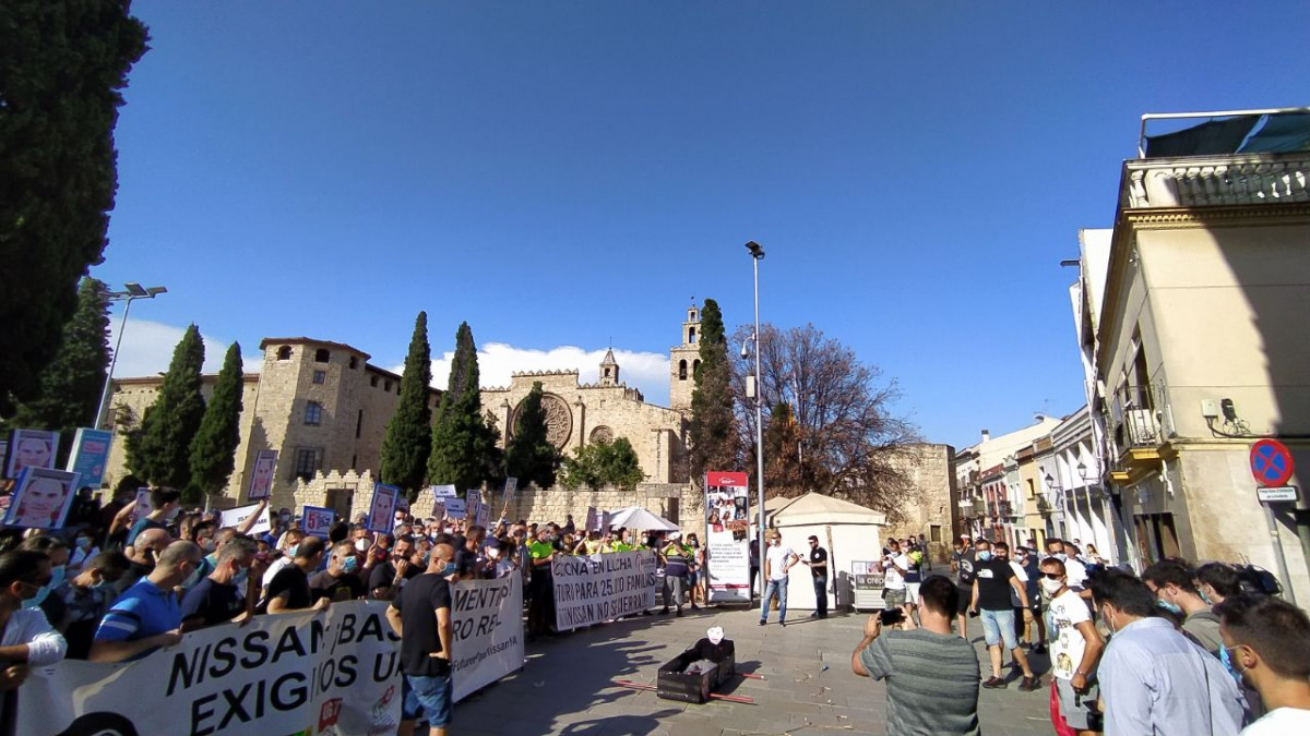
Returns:
[[[50,559],[33,550],[0,554],[0,691],[24,684],[30,668],[62,659],[67,642],[39,609],[24,600],[50,581]]]

